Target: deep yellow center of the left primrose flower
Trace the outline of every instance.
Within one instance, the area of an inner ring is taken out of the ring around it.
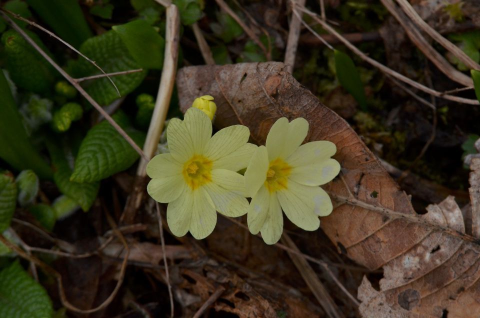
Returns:
[[[190,160],[183,164],[183,178],[186,184],[194,190],[200,185],[211,181],[211,165],[212,162],[206,157],[195,154]]]

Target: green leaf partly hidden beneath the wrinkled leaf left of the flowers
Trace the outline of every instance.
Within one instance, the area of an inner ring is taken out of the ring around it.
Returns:
[[[87,211],[98,193],[99,182],[80,183],[70,181],[71,168],[63,151],[51,142],[47,144],[55,172],[53,180],[56,186],[66,196],[74,200],[81,209]]]

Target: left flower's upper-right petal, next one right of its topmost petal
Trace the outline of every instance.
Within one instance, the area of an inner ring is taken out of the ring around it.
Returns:
[[[212,161],[224,157],[244,145],[249,136],[250,130],[244,125],[223,128],[208,140],[203,154]]]

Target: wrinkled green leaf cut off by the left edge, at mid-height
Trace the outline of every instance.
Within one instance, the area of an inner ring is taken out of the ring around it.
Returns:
[[[0,174],[0,233],[10,226],[15,211],[16,193],[13,176],[9,172]]]

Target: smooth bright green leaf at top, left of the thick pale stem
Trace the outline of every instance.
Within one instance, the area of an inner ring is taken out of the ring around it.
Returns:
[[[120,35],[128,52],[141,67],[161,69],[165,41],[147,22],[134,20],[112,29]]]

